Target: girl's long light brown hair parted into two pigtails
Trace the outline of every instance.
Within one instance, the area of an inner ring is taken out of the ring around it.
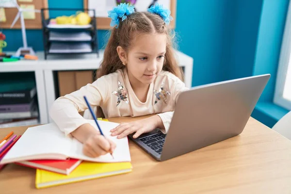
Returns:
[[[134,12],[119,22],[117,28],[113,28],[107,46],[104,50],[104,58],[97,73],[97,78],[125,68],[118,57],[116,48],[121,46],[126,52],[139,34],[164,33],[167,35],[166,54],[162,69],[169,71],[183,80],[182,72],[174,56],[173,40],[174,31],[167,28],[162,17],[149,12]]]

